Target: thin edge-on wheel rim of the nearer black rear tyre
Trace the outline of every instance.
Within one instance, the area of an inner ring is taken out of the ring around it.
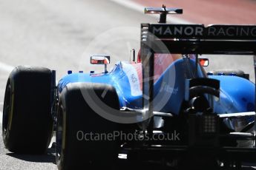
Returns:
[[[59,114],[56,126],[56,157],[57,161],[61,159],[62,156],[62,133],[63,133],[63,111],[62,106],[59,108]]]

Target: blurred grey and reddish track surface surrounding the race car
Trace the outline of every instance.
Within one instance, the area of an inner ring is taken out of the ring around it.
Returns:
[[[13,67],[56,69],[59,79],[68,70],[103,71],[89,64],[92,54],[111,55],[108,69],[130,61],[131,49],[140,49],[140,24],[159,17],[144,15],[144,7],[162,4],[183,8],[182,16],[168,17],[172,23],[256,24],[255,0],[0,0],[0,113]],[[209,58],[208,70],[243,69],[255,80],[252,57]],[[7,156],[1,141],[0,169],[56,169],[54,158]]]

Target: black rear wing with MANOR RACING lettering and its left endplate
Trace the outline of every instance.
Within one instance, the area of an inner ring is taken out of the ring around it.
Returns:
[[[143,109],[153,115],[154,53],[256,54],[256,25],[141,24]],[[256,57],[255,57],[256,68]]]

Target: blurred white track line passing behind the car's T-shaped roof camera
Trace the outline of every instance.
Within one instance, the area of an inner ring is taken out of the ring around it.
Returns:
[[[139,13],[144,13],[144,8],[141,4],[137,4],[134,1],[131,0],[111,0],[114,1],[116,4],[121,4],[124,7],[128,7],[132,10],[137,10]],[[159,18],[158,15],[150,15],[154,16],[155,18]],[[190,21],[186,21],[185,19],[177,18],[174,16],[168,16],[167,17],[168,22],[176,23],[176,24],[193,24]]]

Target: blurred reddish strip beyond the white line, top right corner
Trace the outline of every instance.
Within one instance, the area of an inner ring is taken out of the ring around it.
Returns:
[[[255,0],[133,0],[144,6],[182,7],[179,18],[201,24],[255,24]]]

